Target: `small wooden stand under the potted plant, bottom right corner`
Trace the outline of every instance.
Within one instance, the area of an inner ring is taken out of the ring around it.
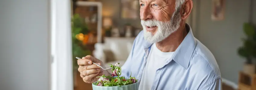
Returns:
[[[256,74],[247,74],[243,71],[239,72],[238,81],[239,90],[256,90]]]

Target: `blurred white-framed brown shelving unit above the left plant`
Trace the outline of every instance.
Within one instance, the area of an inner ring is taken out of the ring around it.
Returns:
[[[74,13],[85,18],[88,29],[94,37],[91,43],[102,42],[102,3],[98,1],[77,1]]]

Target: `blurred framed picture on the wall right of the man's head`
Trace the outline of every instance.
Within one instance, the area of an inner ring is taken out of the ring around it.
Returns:
[[[224,8],[225,0],[212,0],[212,15],[211,18],[213,21],[223,20],[224,19]]]

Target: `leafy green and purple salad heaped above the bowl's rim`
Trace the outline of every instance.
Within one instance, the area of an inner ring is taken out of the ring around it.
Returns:
[[[129,84],[133,84],[136,83],[138,80],[135,79],[135,77],[131,77],[129,79],[125,79],[124,76],[120,76],[121,75],[121,67],[118,66],[119,63],[112,65],[112,64],[108,64],[110,67],[112,67],[112,74],[111,76],[98,76],[100,77],[98,79],[97,82],[94,82],[94,85],[98,85],[98,86],[121,86],[121,85],[129,85]],[[98,78],[97,77],[97,78]]]

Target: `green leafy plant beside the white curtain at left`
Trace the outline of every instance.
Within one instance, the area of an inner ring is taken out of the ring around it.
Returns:
[[[76,86],[76,73],[78,71],[77,59],[75,57],[84,57],[86,55],[91,55],[89,49],[84,48],[84,44],[81,40],[78,40],[76,35],[82,33],[86,35],[89,33],[89,30],[86,26],[86,23],[79,14],[74,14],[72,16],[72,58],[73,58],[73,76],[74,76],[74,86]]]

